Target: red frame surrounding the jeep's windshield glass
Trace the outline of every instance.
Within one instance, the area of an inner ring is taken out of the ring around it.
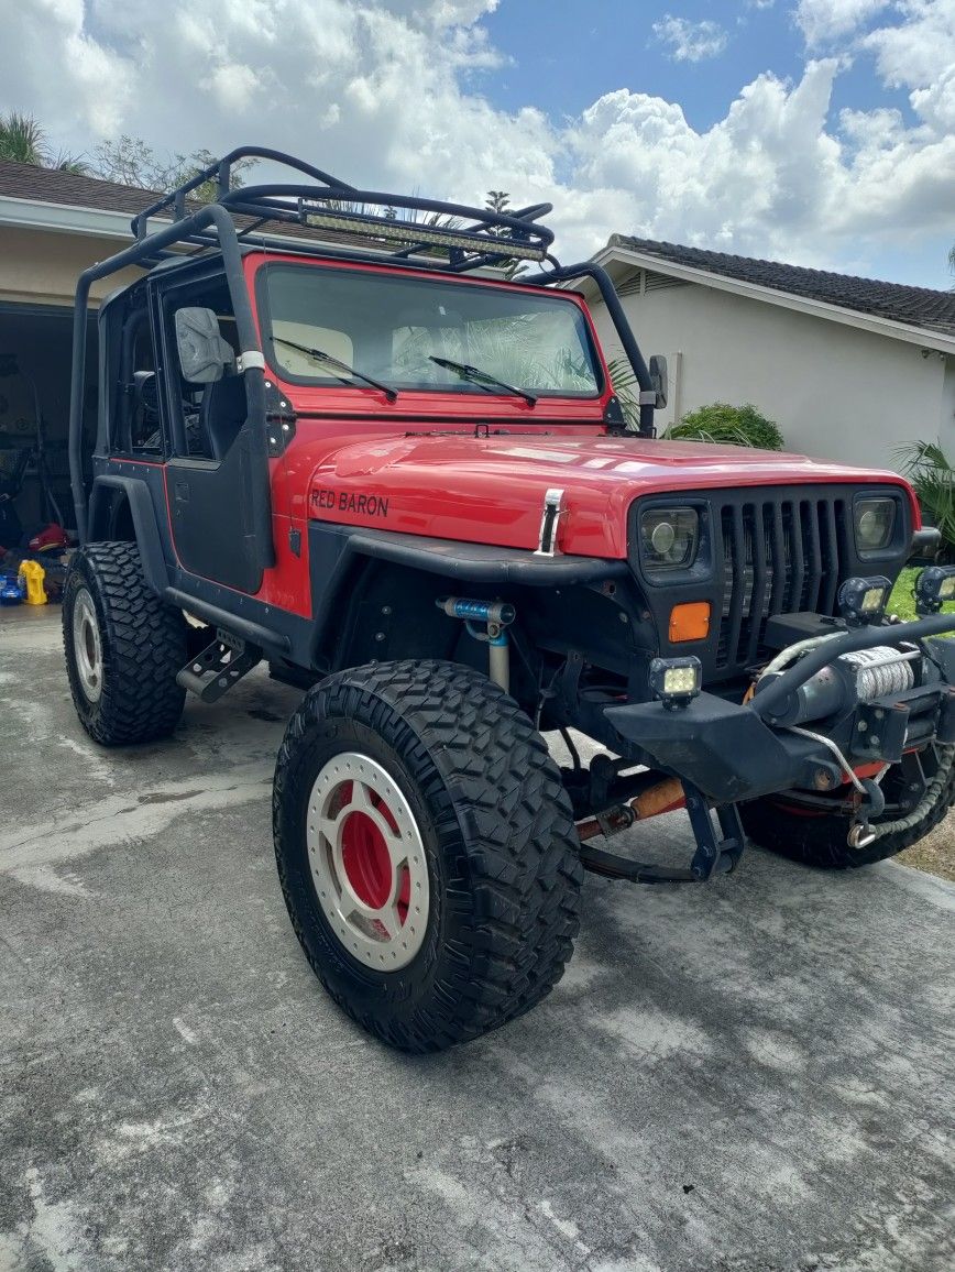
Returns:
[[[306,389],[309,393],[320,392],[322,394],[334,394],[334,393],[364,393],[368,394],[369,387],[360,380],[354,384],[346,384],[340,382],[331,382],[318,379],[315,377],[298,375],[294,371],[287,370],[273,356],[273,349],[271,349],[271,332],[272,332],[272,312],[270,304],[270,289],[268,289],[268,273],[276,268],[300,268],[300,270],[320,270],[320,271],[343,271],[348,273],[374,273],[384,276],[387,279],[413,279],[429,284],[431,286],[462,286],[462,287],[481,287],[484,291],[491,290],[500,293],[506,290],[512,294],[519,294],[523,296],[533,298],[533,300],[540,300],[544,296],[557,304],[571,305],[575,312],[576,322],[580,323],[581,336],[586,349],[586,354],[590,359],[590,365],[594,373],[595,388],[593,392],[575,392],[571,389],[542,389],[537,385],[529,387],[528,392],[538,399],[539,406],[556,404],[556,403],[580,403],[580,404],[593,404],[601,402],[609,392],[609,378],[607,374],[603,354],[600,351],[599,341],[596,340],[596,333],[594,331],[593,319],[590,313],[577,293],[571,291],[554,291],[551,289],[543,289],[537,286],[521,285],[520,282],[511,282],[504,279],[486,279],[474,276],[462,276],[462,275],[449,275],[440,271],[421,271],[413,268],[395,268],[393,265],[378,265],[371,262],[356,262],[356,261],[336,261],[333,258],[320,258],[320,259],[305,259],[296,256],[278,256],[270,254],[257,262],[254,271],[254,299],[256,299],[256,318],[259,331],[259,338],[262,341],[262,351],[265,354],[266,364],[268,370],[275,375],[277,380],[284,384],[299,385]],[[483,368],[482,368],[483,370]],[[451,399],[455,402],[471,402],[477,404],[479,401],[487,402],[488,399],[497,398],[498,401],[511,402],[515,401],[515,394],[507,393],[504,389],[496,391],[487,388],[481,388],[478,384],[469,383],[468,380],[457,380],[448,384],[402,384],[401,382],[393,385],[399,399],[408,398],[422,398],[422,399]],[[490,387],[488,387],[490,388]],[[521,389],[523,392],[523,389]],[[395,403],[383,403],[381,410],[395,410]],[[533,410],[533,408],[532,408]]]

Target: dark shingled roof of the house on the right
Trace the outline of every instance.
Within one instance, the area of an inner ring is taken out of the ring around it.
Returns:
[[[900,282],[881,282],[877,279],[860,279],[849,273],[809,270],[799,265],[783,265],[781,261],[760,261],[626,234],[614,234],[608,247],[623,248],[654,257],[661,263],[699,270],[724,279],[736,279],[923,331],[955,336],[955,291],[909,287]]]

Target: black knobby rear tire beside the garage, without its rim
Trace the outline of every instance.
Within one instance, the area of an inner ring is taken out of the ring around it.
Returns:
[[[92,598],[102,646],[102,689],[84,691],[74,640],[81,594]],[[88,543],[74,553],[62,599],[64,651],[76,714],[94,742],[122,747],[168,736],[186,691],[175,683],[188,659],[181,611],[146,586],[135,543]]]

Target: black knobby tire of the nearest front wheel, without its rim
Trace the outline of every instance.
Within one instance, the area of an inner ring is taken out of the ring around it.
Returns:
[[[352,752],[395,781],[427,860],[423,943],[390,973],[342,944],[309,868],[313,784],[329,758]],[[390,1046],[435,1052],[477,1038],[563,974],[584,874],[570,801],[528,716],[471,668],[380,663],[317,684],[286,730],[272,810],[278,878],[309,963],[338,1006]]]

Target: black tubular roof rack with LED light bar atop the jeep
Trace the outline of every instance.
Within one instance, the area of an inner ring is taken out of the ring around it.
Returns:
[[[258,184],[234,186],[235,165],[244,159],[263,159],[281,164],[310,178],[309,184]],[[356,235],[362,247],[394,259],[425,256],[429,263],[453,272],[464,272],[505,262],[549,261],[553,232],[538,224],[551,204],[534,204],[512,212],[498,212],[464,204],[449,204],[412,195],[390,195],[375,190],[356,190],[355,186],[333,177],[320,168],[262,146],[240,146],[225,158],[196,173],[178,190],[156,200],[132,219],[132,233],[137,243],[149,235],[149,219],[172,212],[173,224],[184,221],[196,211],[197,201],[189,195],[209,182],[216,184],[215,202],[233,218],[247,221],[237,228],[238,237],[249,245],[275,245],[275,234],[262,234],[266,224],[289,225],[301,233],[322,230],[327,245],[331,239],[346,237],[351,244]],[[298,235],[296,235],[298,238]],[[187,242],[196,245],[216,247],[214,230],[188,234]],[[322,252],[310,237],[296,242],[296,251]]]

